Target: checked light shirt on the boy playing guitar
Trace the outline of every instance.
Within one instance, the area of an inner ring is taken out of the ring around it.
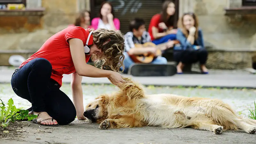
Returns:
[[[147,31],[143,32],[140,40],[137,37],[135,37],[131,31],[127,32],[125,34],[125,42],[124,42],[125,51],[129,52],[131,48],[135,47],[134,44],[144,44],[146,42],[151,42],[151,37]]]

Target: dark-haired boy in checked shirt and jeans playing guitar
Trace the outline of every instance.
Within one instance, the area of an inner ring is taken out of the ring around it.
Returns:
[[[129,55],[140,55],[143,53],[156,53],[155,47],[135,48],[134,44],[144,44],[151,42],[149,33],[145,29],[145,22],[142,19],[134,19],[130,22],[130,31],[125,34],[125,52],[124,52],[124,73],[128,72],[128,68],[134,63]],[[166,45],[167,47],[169,45]],[[167,60],[164,57],[158,56],[152,64],[166,64]]]

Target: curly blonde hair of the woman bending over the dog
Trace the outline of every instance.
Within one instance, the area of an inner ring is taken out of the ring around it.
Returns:
[[[91,56],[96,67],[107,65],[116,72],[120,67],[124,67],[124,35],[120,30],[98,28],[93,31],[92,36],[93,44],[102,51],[101,55],[92,54]],[[103,45],[109,39],[110,41]]]

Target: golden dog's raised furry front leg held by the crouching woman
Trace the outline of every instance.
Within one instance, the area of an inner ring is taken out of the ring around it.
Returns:
[[[119,86],[120,92],[129,100],[142,98],[144,96],[143,86],[132,81],[131,78],[125,77],[126,83]]]

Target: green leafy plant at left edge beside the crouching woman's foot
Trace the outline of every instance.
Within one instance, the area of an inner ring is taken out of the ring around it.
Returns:
[[[1,100],[1,99],[0,99]],[[7,108],[5,107],[4,102],[1,100],[0,103],[0,128],[4,129],[8,126],[9,123],[14,122],[15,120],[23,120],[25,118],[28,121],[36,118],[36,115],[28,115],[28,110],[16,108],[13,105],[12,98],[8,100]]]

